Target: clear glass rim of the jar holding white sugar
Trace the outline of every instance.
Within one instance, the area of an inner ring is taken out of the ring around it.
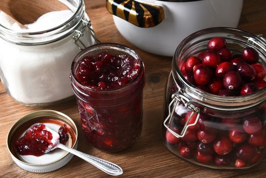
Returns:
[[[80,20],[84,17],[85,14],[85,5],[83,3],[83,0],[79,0],[79,4],[77,6],[76,11],[74,14],[69,18],[67,21],[63,22],[62,24],[55,26],[50,29],[46,29],[44,31],[39,32],[20,32],[15,31],[13,29],[7,28],[6,26],[3,26],[0,23],[0,38],[14,44],[18,45],[43,45],[51,42],[55,42],[58,40],[61,40],[70,34],[72,34],[72,30],[75,26],[78,25]],[[63,34],[65,33],[65,34]],[[47,40],[44,42],[21,42],[23,40],[27,41],[29,39],[38,39],[38,38],[45,38],[43,35],[46,35],[45,37],[50,37],[53,35],[62,34],[61,36],[58,36],[57,38],[53,40]],[[14,41],[9,39],[9,37],[19,37],[21,41]]]

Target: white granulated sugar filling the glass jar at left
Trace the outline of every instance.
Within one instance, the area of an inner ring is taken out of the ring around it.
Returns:
[[[25,29],[0,12],[0,24],[13,31],[39,32],[64,23],[73,14],[70,10],[49,12],[27,24],[28,29]],[[94,43],[87,31],[81,40],[86,46]],[[53,43],[32,46],[17,45],[0,38],[0,48],[0,78],[16,101],[40,105],[73,96],[69,76],[71,63],[80,50],[72,35]]]

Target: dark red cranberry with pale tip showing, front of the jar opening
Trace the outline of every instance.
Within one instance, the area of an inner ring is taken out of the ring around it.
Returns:
[[[223,77],[223,86],[229,90],[236,90],[242,82],[241,76],[235,71],[227,72]]]

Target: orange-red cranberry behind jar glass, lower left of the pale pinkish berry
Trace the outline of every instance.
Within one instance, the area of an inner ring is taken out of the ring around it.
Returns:
[[[229,139],[234,143],[242,143],[246,140],[247,134],[242,127],[234,127],[229,130]]]

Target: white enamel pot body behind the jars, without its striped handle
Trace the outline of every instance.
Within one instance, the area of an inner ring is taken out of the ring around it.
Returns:
[[[111,6],[122,4],[108,0]],[[120,1],[121,2],[121,1]],[[188,35],[200,29],[216,26],[237,27],[241,15],[243,0],[202,0],[191,2],[168,1],[129,1],[158,5],[163,8],[165,18],[153,27],[139,27],[118,16],[113,16],[121,35],[137,47],[159,55],[173,56],[178,44]],[[127,3],[127,4],[128,4]],[[107,5],[107,9],[108,5]],[[129,13],[138,14],[138,9],[128,9]],[[137,11],[137,12],[136,12]],[[110,10],[109,10],[110,12]],[[128,12],[128,11],[127,11]],[[111,12],[112,13],[112,12]],[[114,14],[114,13],[113,13]],[[135,14],[135,16],[136,16]],[[147,13],[146,13],[147,15]]]

